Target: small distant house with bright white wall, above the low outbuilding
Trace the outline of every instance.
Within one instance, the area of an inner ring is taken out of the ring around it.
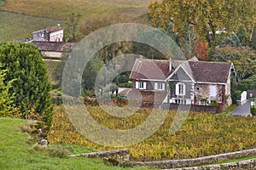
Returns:
[[[32,41],[63,42],[63,28],[61,25],[47,27],[44,30],[32,32]]]

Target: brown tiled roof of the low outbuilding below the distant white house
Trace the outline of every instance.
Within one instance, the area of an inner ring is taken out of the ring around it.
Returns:
[[[32,42],[39,51],[69,52],[73,43],[70,42]]]

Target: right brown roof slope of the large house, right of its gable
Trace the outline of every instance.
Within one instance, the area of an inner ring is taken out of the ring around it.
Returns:
[[[226,83],[230,75],[230,63],[189,61],[195,82]]]

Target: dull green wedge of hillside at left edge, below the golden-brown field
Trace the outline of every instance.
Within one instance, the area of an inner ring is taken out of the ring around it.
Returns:
[[[13,41],[32,37],[33,31],[55,26],[62,20],[32,17],[24,14],[15,14],[0,11],[0,41]]]

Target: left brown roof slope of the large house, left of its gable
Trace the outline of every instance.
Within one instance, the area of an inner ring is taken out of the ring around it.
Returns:
[[[170,60],[136,59],[130,78],[164,81],[171,73]]]

